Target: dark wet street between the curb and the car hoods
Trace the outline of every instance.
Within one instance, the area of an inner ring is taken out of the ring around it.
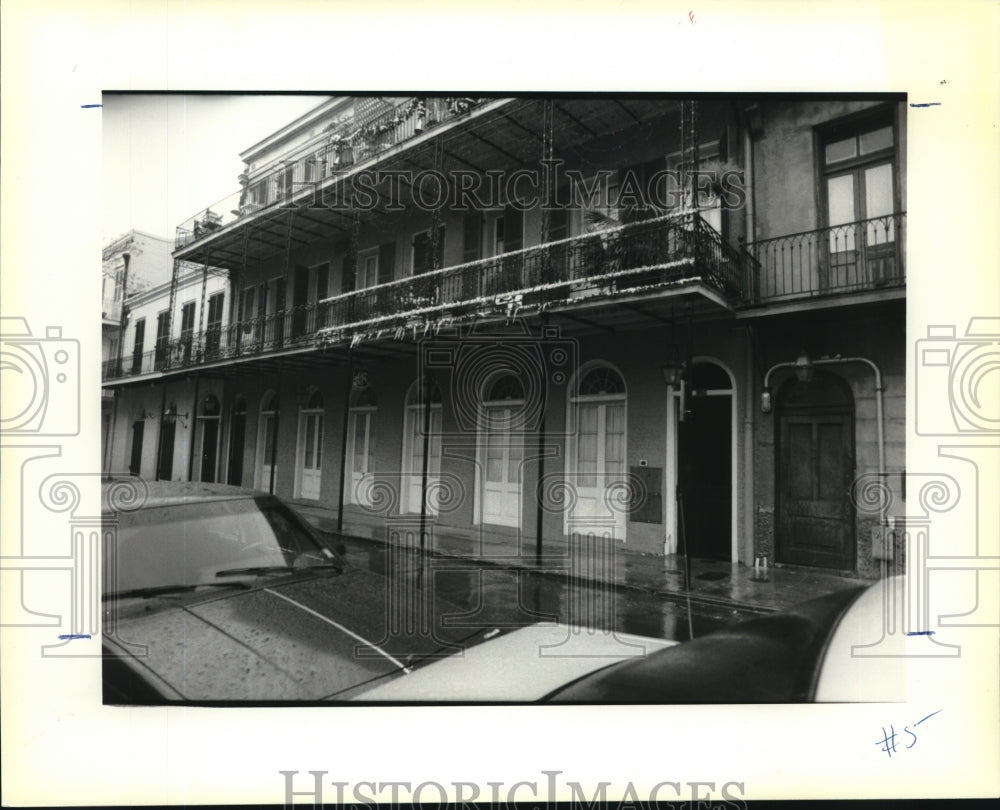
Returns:
[[[458,626],[514,629],[560,622],[601,630],[684,641],[768,612],[751,606],[692,600],[607,583],[571,581],[566,571],[424,556],[360,538],[341,538],[348,561],[390,578],[390,593],[405,604],[423,591],[455,606],[445,621]]]

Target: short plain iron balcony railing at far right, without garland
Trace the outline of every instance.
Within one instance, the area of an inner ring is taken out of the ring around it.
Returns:
[[[901,287],[906,214],[763,239],[750,246],[760,264],[755,303]]]

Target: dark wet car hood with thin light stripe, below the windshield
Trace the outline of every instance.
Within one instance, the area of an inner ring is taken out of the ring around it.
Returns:
[[[105,648],[105,702],[344,699],[461,652],[482,627],[442,627],[441,602],[399,610],[366,571],[263,579],[249,590],[123,602]],[[432,621],[436,616],[437,621]]]

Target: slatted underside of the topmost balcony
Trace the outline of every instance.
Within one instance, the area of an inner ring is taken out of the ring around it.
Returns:
[[[671,133],[679,101],[651,97],[554,99],[553,152],[565,158],[570,166],[590,164],[606,168],[623,164],[625,158],[615,154],[613,144],[603,147],[596,139],[647,127],[669,126]],[[491,102],[480,115],[470,115],[455,124],[422,135],[389,148],[381,155],[353,167],[354,171],[378,169],[417,173],[435,168],[436,142],[442,149],[441,170],[469,170],[485,173],[487,169],[512,172],[539,165],[542,158],[544,99],[511,99]],[[350,175],[348,175],[349,177]],[[332,194],[333,185],[343,178],[329,178],[324,194]],[[383,187],[385,188],[385,187]],[[291,205],[274,205],[256,214],[246,215],[232,224],[203,237],[175,252],[174,256],[199,264],[207,263],[229,270],[244,262],[253,264],[289,249],[305,247],[333,234],[347,239],[352,226],[352,212],[343,207],[311,204],[312,189],[296,194]],[[400,203],[412,206],[412,189],[400,183]],[[385,223],[391,227],[393,212],[385,210],[387,199],[380,195],[380,204],[369,211],[359,211],[362,224]],[[427,213],[428,225],[430,212]]]

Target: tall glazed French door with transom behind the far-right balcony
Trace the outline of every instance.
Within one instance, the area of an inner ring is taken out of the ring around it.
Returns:
[[[896,274],[896,132],[890,112],[820,132],[826,224],[826,286]]]

